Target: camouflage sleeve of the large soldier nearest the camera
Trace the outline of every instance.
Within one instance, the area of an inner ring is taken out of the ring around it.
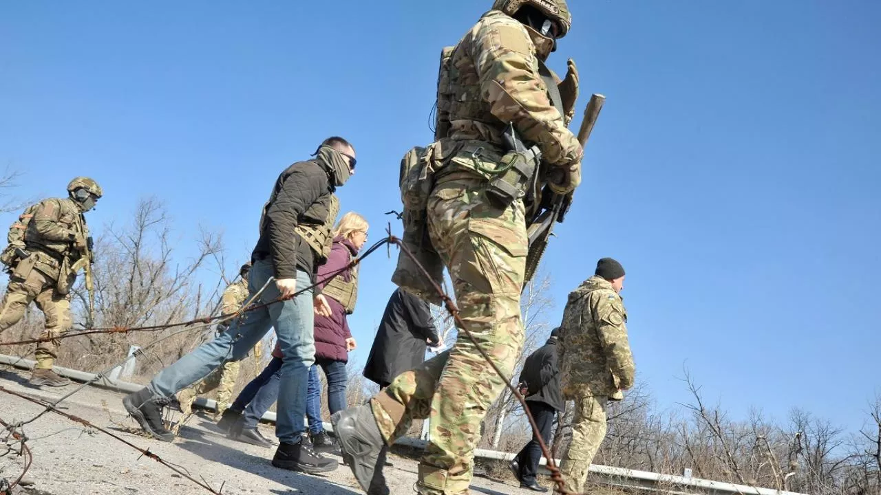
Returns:
[[[523,26],[507,18],[485,19],[474,36],[471,55],[492,115],[514,122],[524,139],[538,145],[547,163],[581,161],[581,144],[548,98],[535,48]]]

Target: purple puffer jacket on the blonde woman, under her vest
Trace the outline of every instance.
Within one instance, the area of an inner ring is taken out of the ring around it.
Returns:
[[[327,277],[328,274],[334,273],[349,264],[349,254],[358,255],[358,248],[352,242],[342,237],[333,240],[333,246],[330,248],[328,261],[318,267],[318,280]],[[352,279],[352,272],[347,270],[341,273],[339,277],[345,280]],[[324,284],[321,284],[322,289]],[[322,316],[315,314],[315,358],[316,359],[332,359],[334,361],[349,361],[349,353],[345,350],[345,339],[352,337],[349,330],[349,321],[346,321],[345,309],[337,299],[331,298],[324,294],[328,299],[331,314],[330,316]]]

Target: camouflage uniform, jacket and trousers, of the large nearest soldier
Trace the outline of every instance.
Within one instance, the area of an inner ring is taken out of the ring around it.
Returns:
[[[552,106],[538,76],[537,47],[519,21],[489,11],[444,55],[435,137],[451,151],[428,197],[428,234],[465,325],[509,378],[523,343],[526,220],[522,200],[500,206],[487,199],[486,171],[500,167],[507,122],[538,144],[548,166],[577,166],[581,144]],[[468,492],[480,423],[504,386],[475,344],[459,335],[451,350],[402,373],[370,403],[388,445],[413,419],[430,417],[418,473],[422,494]]]

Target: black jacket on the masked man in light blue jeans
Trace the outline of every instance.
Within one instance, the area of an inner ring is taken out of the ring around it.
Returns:
[[[300,222],[309,221],[304,218],[304,213],[313,203],[325,205],[323,217],[326,218],[333,190],[327,170],[317,161],[300,161],[288,166],[278,175],[270,200],[264,207],[260,239],[252,258],[260,260],[271,256],[276,278],[296,278],[299,268],[315,281],[315,252],[300,240],[293,228]]]

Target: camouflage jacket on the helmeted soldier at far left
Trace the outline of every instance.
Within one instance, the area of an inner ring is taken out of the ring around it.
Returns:
[[[85,217],[78,204],[70,198],[53,197],[38,203],[27,225],[25,246],[59,261],[66,257],[72,264],[82,255],[74,247],[76,240],[85,245],[88,236]]]

